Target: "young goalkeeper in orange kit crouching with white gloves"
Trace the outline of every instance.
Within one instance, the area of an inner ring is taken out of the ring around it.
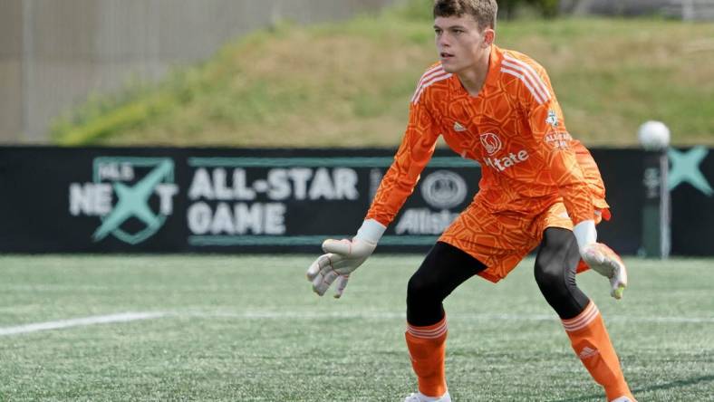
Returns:
[[[561,318],[575,354],[607,400],[634,402],[597,307],[575,284],[582,258],[610,279],[615,298],[627,284],[622,260],[596,243],[608,218],[600,172],[565,129],[543,67],[494,44],[495,0],[436,0],[439,62],[410,102],[410,121],[394,163],[352,240],[326,240],[308,269],[314,292],[333,282],[340,297],[349,274],[372,253],[413,191],[442,135],[482,168],[478,194],[440,236],[407,290],[406,340],[419,392],[406,401],[450,401],[444,376],[443,300],[471,276],[498,282],[540,245],[535,281]]]

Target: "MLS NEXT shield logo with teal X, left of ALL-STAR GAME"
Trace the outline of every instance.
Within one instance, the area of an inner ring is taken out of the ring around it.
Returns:
[[[70,213],[100,217],[94,242],[113,235],[140,244],[173,213],[178,186],[171,158],[95,158],[92,177],[92,183],[70,185]]]

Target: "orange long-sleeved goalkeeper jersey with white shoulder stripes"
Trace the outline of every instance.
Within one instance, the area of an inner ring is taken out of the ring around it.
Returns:
[[[389,225],[429,162],[439,135],[482,177],[475,201],[488,212],[543,211],[563,201],[574,224],[607,208],[590,152],[565,128],[545,69],[522,53],[492,46],[486,81],[474,97],[440,63],[425,72],[410,120],[367,218]]]

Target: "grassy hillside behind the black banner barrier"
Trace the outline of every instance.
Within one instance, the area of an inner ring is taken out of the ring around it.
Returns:
[[[436,61],[431,20],[415,10],[251,34],[159,84],[88,101],[55,122],[53,139],[63,145],[395,146],[415,84]],[[644,120],[662,120],[674,144],[714,145],[714,24],[533,19],[497,28],[501,47],[545,66],[568,128],[585,144],[633,145]]]

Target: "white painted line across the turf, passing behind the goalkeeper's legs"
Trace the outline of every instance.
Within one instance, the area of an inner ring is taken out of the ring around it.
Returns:
[[[143,311],[121,312],[109,315],[97,315],[70,320],[35,322],[14,327],[0,327],[0,336],[37,332],[40,330],[61,330],[114,322],[154,320],[164,317],[185,317],[198,319],[237,319],[237,320],[323,320],[323,319],[368,319],[368,320],[405,320],[401,312],[383,311]],[[449,314],[449,320],[458,321],[557,321],[555,315],[545,314],[497,314],[471,313]],[[644,322],[671,324],[710,324],[714,317],[606,317],[608,322]]]

